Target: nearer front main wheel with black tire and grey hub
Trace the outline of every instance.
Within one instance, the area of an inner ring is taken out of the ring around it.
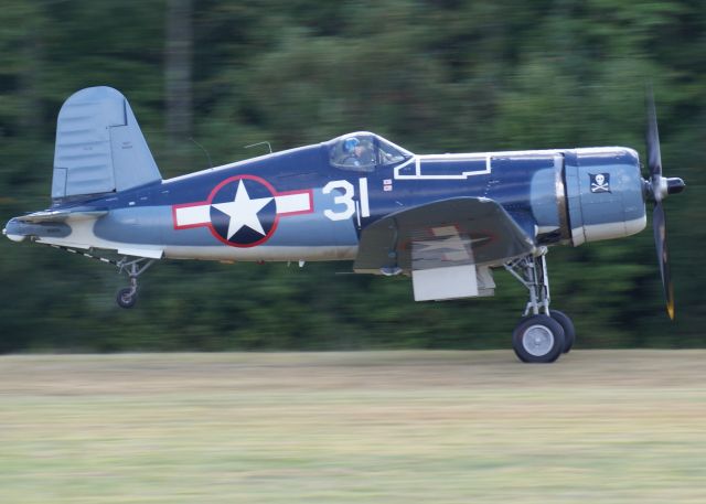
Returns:
[[[564,351],[564,329],[547,315],[526,317],[512,332],[512,347],[522,362],[552,363]]]

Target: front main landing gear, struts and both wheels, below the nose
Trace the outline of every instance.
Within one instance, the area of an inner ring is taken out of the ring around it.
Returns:
[[[505,269],[530,292],[523,319],[512,333],[513,350],[517,358],[526,363],[556,361],[561,353],[571,350],[576,337],[571,320],[560,311],[549,311],[545,253],[505,264]]]

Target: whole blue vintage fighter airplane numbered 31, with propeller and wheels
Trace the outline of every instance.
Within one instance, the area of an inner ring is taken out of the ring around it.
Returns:
[[[420,156],[367,131],[162,180],[125,96],[90,87],[58,114],[50,208],[3,233],[117,266],[122,308],[159,259],[347,260],[411,277],[416,301],[493,296],[504,268],[528,291],[517,357],[554,362],[575,330],[549,309],[547,247],[639,233],[648,200],[674,317],[662,201],[684,182],[662,176],[651,94],[646,131],[649,180],[624,147]]]

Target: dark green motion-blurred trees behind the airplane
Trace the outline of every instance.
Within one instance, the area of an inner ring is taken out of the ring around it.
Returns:
[[[644,152],[653,82],[677,320],[651,232],[554,248],[578,347],[703,346],[706,9],[700,0],[6,0],[0,217],[49,205],[56,114],[75,90],[130,100],[164,178],[376,131],[414,152],[605,144]],[[0,240],[0,352],[509,346],[525,293],[414,303],[409,280],[350,264],[160,264],[135,310],[96,261]]]

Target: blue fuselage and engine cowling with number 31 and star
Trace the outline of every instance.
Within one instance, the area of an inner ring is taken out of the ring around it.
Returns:
[[[384,139],[372,136],[377,142]],[[335,140],[104,194],[52,210],[108,213],[40,242],[221,260],[354,259],[361,230],[431,202],[500,203],[537,245],[644,227],[638,156],[627,148],[402,154],[336,164]],[[396,146],[395,146],[396,147]],[[601,184],[596,185],[596,178]]]

